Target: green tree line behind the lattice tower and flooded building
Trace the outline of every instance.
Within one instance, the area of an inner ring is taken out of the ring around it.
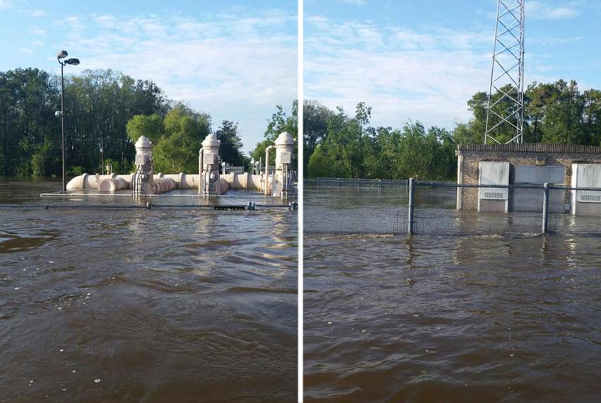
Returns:
[[[498,115],[509,115],[513,105],[503,93],[517,96],[511,86],[491,96]],[[488,93],[467,101],[472,118],[451,131],[426,129],[407,122],[400,129],[370,125],[371,107],[358,103],[354,115],[341,107],[330,110],[316,100],[304,103],[305,175],[309,177],[365,177],[374,179],[455,180],[459,144],[482,144],[486,128]],[[489,127],[499,121],[491,114]],[[515,136],[510,124],[500,124],[493,135],[499,141]],[[581,92],[576,81],[532,83],[524,94],[524,141],[528,143],[601,145],[601,91]]]

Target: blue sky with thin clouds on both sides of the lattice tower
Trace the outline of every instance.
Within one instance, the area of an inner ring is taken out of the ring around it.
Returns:
[[[511,1],[511,0],[508,0]],[[601,1],[526,0],[525,83],[601,89]],[[453,129],[488,91],[497,0],[305,0],[305,98]]]

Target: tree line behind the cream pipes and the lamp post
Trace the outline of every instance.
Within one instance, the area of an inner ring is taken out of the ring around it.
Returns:
[[[0,71],[0,176],[61,175],[61,121],[54,115],[60,95],[60,77],[46,71]],[[141,135],[153,142],[157,172],[198,170],[198,150],[212,130],[210,115],[170,100],[152,81],[110,69],[86,70],[65,77],[64,97],[68,175],[102,172],[103,161],[112,172],[132,172],[134,143]],[[255,153],[264,151],[277,130],[293,130],[294,122],[296,112],[288,117],[278,106]],[[224,120],[215,134],[222,160],[248,165],[237,123]]]

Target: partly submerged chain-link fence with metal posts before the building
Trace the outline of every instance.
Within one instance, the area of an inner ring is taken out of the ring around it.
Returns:
[[[308,178],[306,233],[601,234],[601,189]]]

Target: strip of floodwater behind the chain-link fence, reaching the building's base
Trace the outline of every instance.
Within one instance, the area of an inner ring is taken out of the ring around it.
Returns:
[[[304,192],[305,233],[407,233],[408,192],[404,181],[392,182],[392,185],[383,189],[314,187],[306,186],[305,183]],[[565,193],[561,196],[564,197]],[[548,218],[548,229],[556,233],[595,234],[601,232],[600,228],[599,216],[573,216],[552,211]],[[414,233],[523,237],[541,232],[542,206],[540,209],[535,206],[532,211],[484,213],[457,210],[457,192],[454,187],[426,185],[418,187],[415,192]]]

